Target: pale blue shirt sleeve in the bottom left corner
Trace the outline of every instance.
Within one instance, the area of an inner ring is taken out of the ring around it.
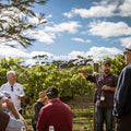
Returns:
[[[22,120],[10,117],[10,120],[9,120],[5,131],[21,131],[21,128],[23,126],[24,126],[24,123]]]

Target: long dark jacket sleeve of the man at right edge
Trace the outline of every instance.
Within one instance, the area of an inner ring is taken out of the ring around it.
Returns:
[[[127,103],[128,91],[131,86],[131,72],[126,68],[122,70],[114,98],[114,111],[117,118],[120,118]]]

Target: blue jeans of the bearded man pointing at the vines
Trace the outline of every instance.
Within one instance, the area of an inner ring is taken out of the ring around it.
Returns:
[[[104,131],[104,121],[106,131],[112,131],[112,107],[95,106],[96,131]]]

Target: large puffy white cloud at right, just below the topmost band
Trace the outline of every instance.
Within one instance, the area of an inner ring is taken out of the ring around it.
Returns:
[[[88,26],[91,27],[91,35],[94,36],[112,37],[131,35],[131,27],[129,27],[124,22],[92,22]]]

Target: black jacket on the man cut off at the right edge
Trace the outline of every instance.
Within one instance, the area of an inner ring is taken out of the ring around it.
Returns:
[[[120,73],[114,97],[114,115],[117,118],[131,115],[131,64]]]

